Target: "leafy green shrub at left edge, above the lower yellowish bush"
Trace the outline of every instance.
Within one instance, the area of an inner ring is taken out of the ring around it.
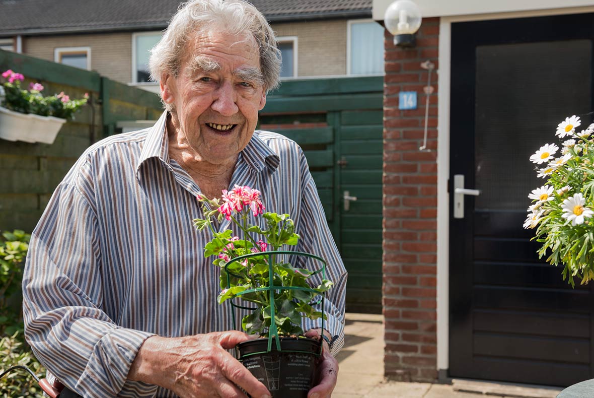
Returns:
[[[21,230],[5,231],[2,236],[4,241],[0,241],[0,336],[10,336],[23,330],[20,305],[11,303],[11,299],[14,300],[14,295],[20,293],[31,236]]]

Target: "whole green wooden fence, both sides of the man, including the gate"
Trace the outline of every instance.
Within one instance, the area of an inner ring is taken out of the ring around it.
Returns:
[[[53,145],[0,140],[0,230],[33,230],[53,190],[91,143],[118,121],[156,120],[153,93],[85,71],[0,50],[12,69],[45,93],[90,94],[90,104],[62,127]],[[260,128],[304,149],[328,225],[349,271],[347,310],[381,312],[383,77],[287,80],[268,95]],[[345,209],[343,195],[356,196]]]

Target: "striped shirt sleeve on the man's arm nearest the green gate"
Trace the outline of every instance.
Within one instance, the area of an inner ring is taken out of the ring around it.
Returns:
[[[334,238],[328,228],[324,208],[318,196],[318,190],[314,179],[309,173],[307,162],[302,158],[302,176],[304,176],[304,187],[302,190],[301,212],[299,222],[296,225],[300,236],[298,250],[312,253],[326,261],[326,279],[334,283],[332,288],[326,292],[324,300],[324,329],[332,336],[338,336],[334,341],[331,353],[336,355],[345,345],[345,295],[347,272],[342,262],[340,253],[334,242]],[[308,269],[319,269],[321,264],[313,259],[308,260],[305,265]],[[312,284],[317,286],[321,283],[321,274],[312,277]],[[321,328],[321,319],[304,318],[304,330]]]

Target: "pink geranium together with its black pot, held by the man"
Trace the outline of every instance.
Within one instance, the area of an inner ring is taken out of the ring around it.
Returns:
[[[302,318],[321,319],[324,327],[326,314],[316,306],[323,308],[325,292],[332,286],[324,278],[326,263],[310,253],[283,250],[298,243],[295,225],[288,214],[264,212],[258,190],[235,186],[223,190],[221,200],[197,199],[205,218],[195,219],[194,224],[213,235],[204,247],[204,256],[216,256],[213,264],[221,271],[218,301],[247,310],[241,319],[242,329],[263,337],[239,343],[239,360],[274,397],[307,397],[321,341],[304,336]],[[250,212],[261,225],[249,224]],[[231,220],[242,236],[234,236],[232,230],[217,232],[213,219],[221,222],[223,218]],[[286,258],[295,255],[316,259],[320,268],[294,267]],[[314,287],[308,280],[315,274],[321,274],[322,279]],[[231,312],[236,324],[235,311]]]

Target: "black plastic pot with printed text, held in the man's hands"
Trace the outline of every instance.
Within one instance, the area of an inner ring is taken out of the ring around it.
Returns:
[[[273,398],[307,398],[314,386],[320,341],[282,337],[268,351],[268,339],[239,343],[239,361],[268,388]]]

